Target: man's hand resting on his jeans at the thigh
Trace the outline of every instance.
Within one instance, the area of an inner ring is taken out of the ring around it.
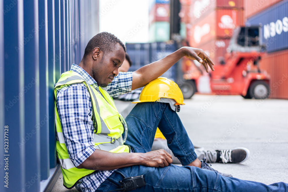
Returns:
[[[149,151],[142,154],[143,165],[147,167],[166,167],[172,163],[172,156],[164,149]]]

